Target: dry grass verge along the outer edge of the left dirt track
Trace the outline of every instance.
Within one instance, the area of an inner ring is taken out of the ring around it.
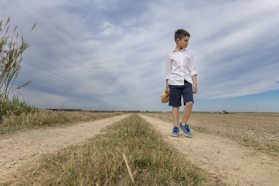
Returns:
[[[0,134],[12,134],[18,130],[29,130],[46,126],[69,125],[77,122],[95,121],[102,118],[119,116],[124,113],[87,113],[87,112],[51,112],[11,114],[2,117]]]

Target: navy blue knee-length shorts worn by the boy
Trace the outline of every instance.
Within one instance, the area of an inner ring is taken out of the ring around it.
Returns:
[[[169,85],[170,88],[170,100],[169,106],[180,107],[181,106],[181,95],[183,96],[183,103],[192,101],[193,99],[193,85],[188,81],[184,80],[184,85]]]

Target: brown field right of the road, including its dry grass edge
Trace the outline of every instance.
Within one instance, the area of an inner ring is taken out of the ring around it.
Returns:
[[[173,123],[171,113],[145,113],[166,122]],[[182,121],[183,113],[179,115]],[[228,138],[245,146],[255,147],[264,153],[279,156],[278,113],[192,113],[188,124],[190,129]]]

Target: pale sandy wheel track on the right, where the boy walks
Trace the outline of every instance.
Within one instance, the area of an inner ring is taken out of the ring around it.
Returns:
[[[140,116],[159,130],[167,142],[185,154],[185,159],[205,168],[225,184],[277,186],[279,183],[279,157],[194,130],[191,130],[193,138],[187,138],[182,131],[179,137],[172,137],[172,123]]]

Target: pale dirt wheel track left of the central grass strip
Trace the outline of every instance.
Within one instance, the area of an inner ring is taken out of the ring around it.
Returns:
[[[101,129],[129,114],[63,128],[38,129],[0,136],[0,180],[15,172],[23,163],[100,134]],[[0,182],[1,182],[0,181]]]

